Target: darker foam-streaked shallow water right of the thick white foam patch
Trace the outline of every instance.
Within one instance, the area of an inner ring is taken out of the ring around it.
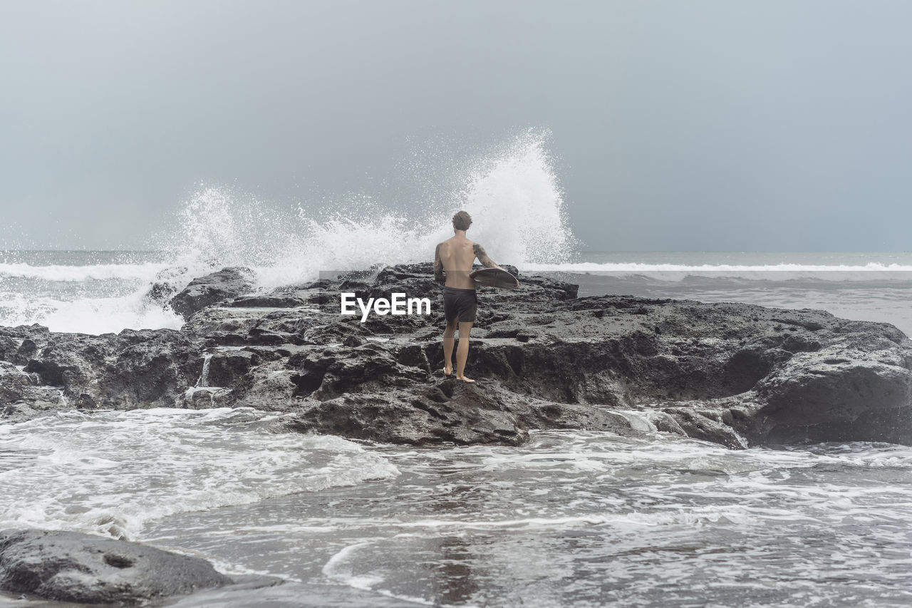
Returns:
[[[181,514],[147,538],[434,605],[912,601],[907,447],[546,432],[519,448],[375,449],[398,477]],[[212,517],[230,538],[207,533]]]

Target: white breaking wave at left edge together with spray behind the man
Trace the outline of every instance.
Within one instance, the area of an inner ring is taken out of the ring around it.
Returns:
[[[268,289],[314,280],[323,270],[430,261],[434,246],[451,236],[459,209],[472,214],[470,237],[500,263],[566,261],[575,240],[548,138],[526,131],[457,162],[451,173],[416,176],[448,188],[419,206],[347,194],[282,208],[239,187],[201,184],[171,229],[151,237],[155,253],[144,258],[98,252],[87,260],[74,252],[73,266],[63,257],[50,264],[4,259],[0,324],[86,333],[179,328],[166,298],[149,297],[153,284],[168,294],[221,267],[250,267],[257,287]]]

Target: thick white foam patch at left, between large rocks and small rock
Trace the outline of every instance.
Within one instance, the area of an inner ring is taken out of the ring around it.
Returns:
[[[395,477],[384,457],[334,436],[277,433],[250,409],[80,414],[5,425],[0,528],[133,538],[151,519]],[[31,460],[23,466],[22,459]]]

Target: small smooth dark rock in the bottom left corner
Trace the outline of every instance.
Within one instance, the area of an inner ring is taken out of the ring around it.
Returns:
[[[199,558],[125,540],[0,531],[0,590],[78,603],[140,603],[232,581]]]

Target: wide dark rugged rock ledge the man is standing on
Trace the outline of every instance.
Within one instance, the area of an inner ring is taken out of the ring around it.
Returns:
[[[518,289],[479,291],[469,360],[479,382],[468,386],[440,372],[430,270],[376,268],[234,295],[180,331],[0,328],[0,359],[25,366],[4,368],[0,394],[22,411],[53,406],[25,389],[39,385],[61,387],[78,407],[244,405],[295,412],[296,430],[412,445],[515,445],[551,428],[636,434],[643,425],[632,428],[630,412],[733,448],[912,444],[912,342],[891,325],[819,310],[577,298],[574,285],[520,277]],[[343,291],[427,297],[431,314],[362,323],[339,314]]]

